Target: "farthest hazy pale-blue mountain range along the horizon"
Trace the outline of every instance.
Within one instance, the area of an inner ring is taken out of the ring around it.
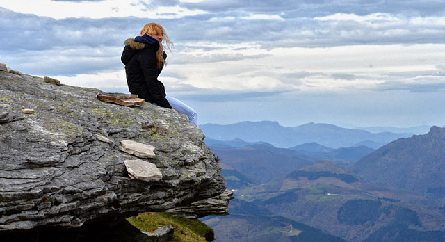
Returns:
[[[308,123],[297,127],[282,127],[278,122],[238,122],[235,124],[202,124],[200,129],[207,138],[214,140],[234,140],[247,142],[267,142],[275,147],[293,147],[304,143],[340,148],[355,146],[364,141],[378,148],[398,138],[412,134],[380,132],[373,134],[360,129],[345,129],[332,124]]]

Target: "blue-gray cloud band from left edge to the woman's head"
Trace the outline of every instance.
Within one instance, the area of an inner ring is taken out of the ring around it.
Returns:
[[[146,22],[146,19],[135,17],[56,20],[0,7],[0,48],[1,51],[16,51],[119,46],[126,38],[134,37]]]

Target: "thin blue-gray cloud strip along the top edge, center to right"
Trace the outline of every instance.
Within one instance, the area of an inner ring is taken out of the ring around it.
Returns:
[[[391,0],[282,0],[282,1],[202,1],[200,3],[181,3],[190,9],[206,10],[212,13],[241,10],[252,13],[284,13],[286,19],[295,17],[316,17],[333,13],[402,13],[410,15],[442,15],[445,6],[441,1],[391,1]]]

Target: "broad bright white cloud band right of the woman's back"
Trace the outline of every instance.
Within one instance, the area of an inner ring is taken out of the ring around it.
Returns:
[[[437,66],[445,62],[442,58],[445,45],[432,44],[270,50],[253,43],[241,49],[237,45],[216,43],[208,43],[209,46],[215,49],[176,51],[170,55],[171,64],[165,67],[160,78],[180,76],[175,83],[232,92],[302,90],[341,93],[373,90],[385,82],[419,81],[417,76],[437,72]],[[259,56],[249,58],[254,55]],[[218,56],[218,61],[209,61],[213,56]],[[394,73],[405,74],[396,76]],[[428,82],[424,83],[428,85]]]

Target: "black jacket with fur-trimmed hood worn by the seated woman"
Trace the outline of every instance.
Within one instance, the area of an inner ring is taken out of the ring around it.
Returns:
[[[140,41],[140,36],[136,40]],[[164,108],[172,108],[165,99],[165,88],[158,76],[162,67],[157,67],[156,51],[159,49],[159,42],[150,36],[143,36],[143,42],[135,41],[133,38],[125,40],[124,51],[120,60],[125,65],[127,74],[127,84],[131,94],[145,99],[150,103],[156,103]],[[157,45],[156,45],[157,44]],[[164,58],[167,54],[164,54]]]

